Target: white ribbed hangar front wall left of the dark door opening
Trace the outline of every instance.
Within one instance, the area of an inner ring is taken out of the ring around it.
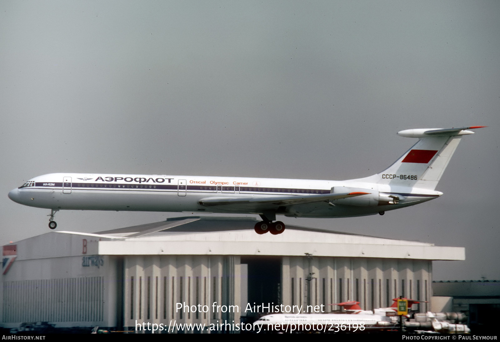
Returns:
[[[239,322],[239,260],[238,255],[126,256],[124,325]],[[180,304],[182,309],[178,309]],[[194,305],[196,310],[183,305]]]

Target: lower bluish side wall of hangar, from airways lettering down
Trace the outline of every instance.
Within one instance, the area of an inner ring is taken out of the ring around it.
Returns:
[[[4,327],[36,321],[115,326],[117,263],[108,255],[15,260],[3,275]]]

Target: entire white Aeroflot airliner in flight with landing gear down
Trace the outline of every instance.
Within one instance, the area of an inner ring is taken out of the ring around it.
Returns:
[[[282,233],[276,215],[348,217],[380,214],[439,197],[434,190],[462,135],[461,128],[418,128],[397,134],[419,138],[380,173],[349,180],[50,173],[8,193],[17,203],[56,211],[129,210],[258,214],[257,233]]]

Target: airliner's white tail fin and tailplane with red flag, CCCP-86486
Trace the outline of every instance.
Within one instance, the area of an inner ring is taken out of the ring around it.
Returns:
[[[485,126],[401,130],[397,132],[398,135],[418,137],[418,141],[382,172],[356,180],[433,190],[461,136],[474,133],[466,129],[480,127]]]

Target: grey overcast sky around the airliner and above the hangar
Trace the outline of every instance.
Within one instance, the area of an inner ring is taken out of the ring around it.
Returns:
[[[438,199],[384,216],[283,218],[464,246],[434,279],[500,278],[499,1],[0,3],[0,243],[48,232],[7,192],[51,172],[348,179],[407,128],[465,136]],[[179,213],[60,211],[93,232]]]

